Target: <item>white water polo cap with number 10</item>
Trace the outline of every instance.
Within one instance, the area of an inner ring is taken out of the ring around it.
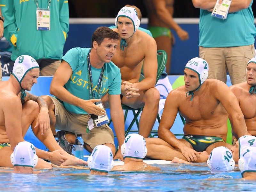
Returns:
[[[235,167],[232,152],[226,147],[214,148],[207,160],[211,172],[231,171]]]

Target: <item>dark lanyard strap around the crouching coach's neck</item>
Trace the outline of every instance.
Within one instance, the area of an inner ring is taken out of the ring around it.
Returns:
[[[87,62],[88,62],[89,98],[90,99],[97,99],[98,95],[100,96],[100,98],[101,98],[101,95],[102,95],[101,92],[102,92],[102,84],[103,84],[102,77],[103,77],[103,73],[104,73],[104,65],[103,65],[103,68],[101,70],[100,78],[99,78],[99,81],[98,81],[98,84],[97,84],[97,87],[96,87],[96,91],[97,91],[98,87],[100,85],[99,90],[97,91],[97,97],[95,98],[95,92],[93,91],[93,87],[92,87],[92,69],[91,69],[91,62],[90,62],[90,53],[91,53],[91,49],[90,49],[88,57],[87,57]]]

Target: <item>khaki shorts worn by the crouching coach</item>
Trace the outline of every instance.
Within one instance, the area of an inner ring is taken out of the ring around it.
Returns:
[[[72,113],[64,108],[56,98],[50,97],[55,105],[55,117],[56,125],[55,128],[58,130],[69,131],[72,133],[82,134],[84,142],[93,149],[97,145],[103,145],[105,143],[114,143],[114,133],[112,129],[107,125],[102,125],[94,128],[89,133],[86,133],[86,127],[88,125],[88,114],[76,114]]]

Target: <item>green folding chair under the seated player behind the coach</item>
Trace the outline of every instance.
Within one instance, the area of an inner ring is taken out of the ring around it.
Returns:
[[[157,56],[157,64],[158,64],[157,75],[156,75],[156,83],[157,83],[160,76],[162,75],[162,72],[164,71],[164,67],[165,67],[166,62],[167,62],[167,54],[164,50],[158,50],[156,56]],[[143,66],[142,66],[142,69],[141,69],[141,73],[143,74]],[[144,79],[144,76],[142,74],[140,75],[140,80],[139,81]],[[126,121],[127,114],[129,112],[129,110],[132,111],[133,116],[134,116],[133,119],[132,119],[131,124],[129,125],[129,127],[125,131],[124,137],[126,137],[129,132],[138,132],[138,130],[139,130],[138,116],[140,115],[140,112],[143,110],[143,107],[138,108],[138,109],[134,109],[134,108],[130,108],[130,107],[122,104],[122,108],[125,110],[125,112],[124,112],[124,122]],[[160,116],[158,114],[157,114],[157,120],[158,120],[158,122],[160,122]],[[136,122],[138,130],[137,131],[133,131],[133,130],[131,131],[131,128],[132,128],[132,126],[135,122]],[[111,120],[110,120],[110,123],[111,123]],[[152,135],[150,134],[149,137],[152,137]]]

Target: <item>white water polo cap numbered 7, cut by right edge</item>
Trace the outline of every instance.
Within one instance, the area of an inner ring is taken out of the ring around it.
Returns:
[[[244,172],[256,172],[256,148],[248,147],[243,152],[238,160],[238,167],[242,177],[244,177]]]

